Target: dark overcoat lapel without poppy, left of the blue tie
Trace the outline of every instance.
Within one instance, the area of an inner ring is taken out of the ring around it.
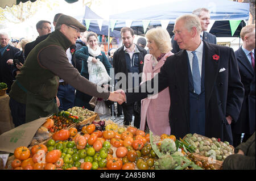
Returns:
[[[181,50],[175,54],[176,64],[175,64],[175,77],[177,79],[177,89],[182,97],[182,103],[184,105],[184,112],[187,118],[187,124],[189,125],[189,105],[188,105],[188,55],[186,50]],[[190,68],[189,68],[190,69]],[[174,87],[176,88],[176,87]],[[173,89],[173,88],[172,88]]]

